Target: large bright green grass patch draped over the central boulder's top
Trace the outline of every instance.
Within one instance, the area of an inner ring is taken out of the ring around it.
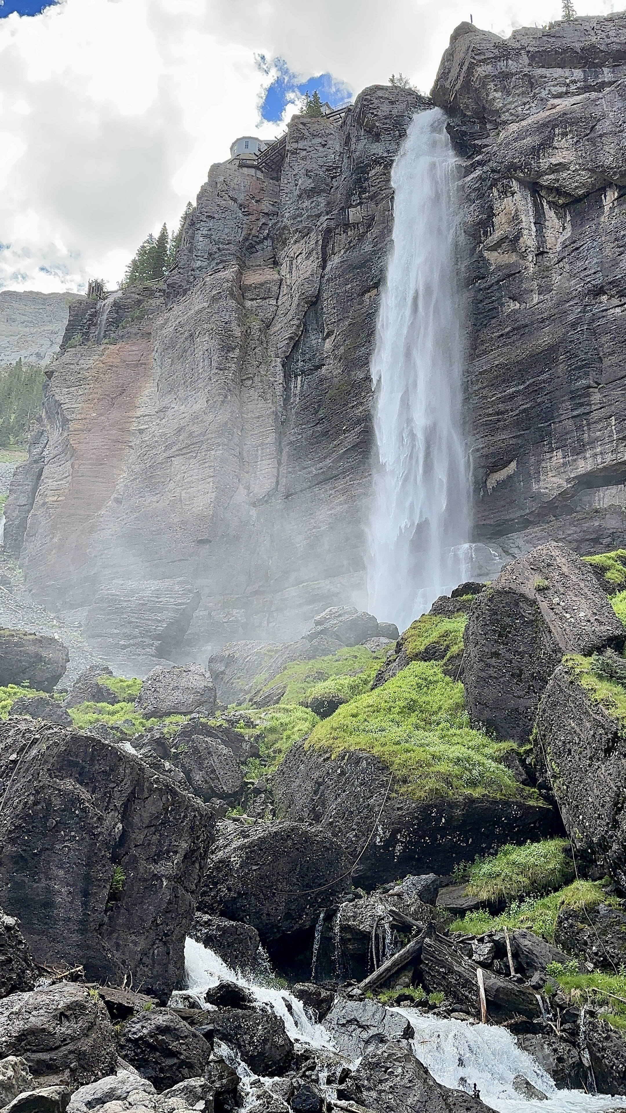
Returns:
[[[536,799],[498,758],[512,743],[472,730],[463,686],[433,662],[414,662],[392,680],[340,707],[307,746],[364,750],[387,765],[395,791],[414,800],[460,795]]]

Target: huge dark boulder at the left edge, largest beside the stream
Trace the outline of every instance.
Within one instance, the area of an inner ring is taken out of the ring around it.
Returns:
[[[19,757],[17,757],[19,755]],[[195,797],[91,735],[0,722],[0,888],[36,961],[167,1001],[214,835]]]

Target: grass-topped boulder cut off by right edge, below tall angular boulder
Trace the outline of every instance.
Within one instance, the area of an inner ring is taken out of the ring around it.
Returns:
[[[600,589],[598,588],[598,591]],[[626,885],[626,752],[623,722],[609,700],[597,703],[560,666],[548,683],[535,725],[537,774],[558,801],[565,829]]]

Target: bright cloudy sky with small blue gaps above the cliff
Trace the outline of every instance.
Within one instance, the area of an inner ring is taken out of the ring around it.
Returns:
[[[604,14],[613,0],[575,0]],[[620,3],[617,3],[620,8]],[[560,0],[0,0],[0,289],[115,288],[233,139],[305,92],[432,86],[453,28],[508,36]]]

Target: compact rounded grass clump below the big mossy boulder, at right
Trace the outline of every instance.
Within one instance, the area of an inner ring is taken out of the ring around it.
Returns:
[[[477,858],[468,870],[468,893],[483,900],[520,897],[559,889],[574,880],[575,870],[565,838],[526,846],[503,846],[497,855]]]

